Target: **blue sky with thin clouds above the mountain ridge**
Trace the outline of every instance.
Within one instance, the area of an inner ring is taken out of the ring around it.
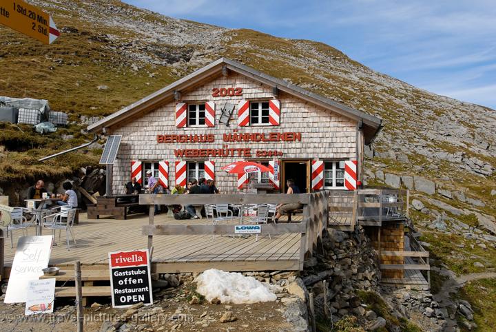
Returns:
[[[322,41],[373,70],[496,109],[495,0],[125,0],[169,17]]]

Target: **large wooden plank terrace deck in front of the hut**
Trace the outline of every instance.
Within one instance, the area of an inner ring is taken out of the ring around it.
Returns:
[[[282,218],[281,218],[282,219]],[[302,216],[293,217],[293,222]],[[95,265],[94,268],[107,267],[108,252],[143,249],[147,247],[147,236],[141,235],[142,226],[148,225],[148,216],[130,216],[127,220],[99,219],[88,220],[81,214],[79,225],[74,226],[78,247],[68,251],[65,232],[57,245],[52,248],[51,265],[63,267],[74,264]],[[232,225],[238,219],[234,218]],[[211,225],[207,219],[174,220],[165,215],[155,217],[155,225]],[[220,223],[219,223],[220,225]],[[34,227],[28,231],[34,235]],[[43,234],[50,234],[44,231]],[[14,231],[14,243],[21,231]],[[12,265],[14,249],[10,240],[5,245],[6,267]],[[199,272],[209,268],[224,271],[276,271],[298,270],[300,260],[300,234],[281,234],[256,237],[232,236],[157,236],[154,238],[152,269],[157,273]]]

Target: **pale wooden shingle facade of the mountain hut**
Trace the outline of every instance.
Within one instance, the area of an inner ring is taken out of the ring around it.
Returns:
[[[242,87],[242,96],[217,97],[211,96],[214,87]],[[271,87],[251,81],[240,74],[221,76],[209,83],[205,83],[196,90],[183,94],[182,101],[216,103],[215,127],[185,127],[175,126],[176,102],[167,103],[162,107],[149,112],[134,121],[113,128],[112,134],[123,135],[118,159],[114,164],[113,189],[120,192],[123,183],[130,179],[131,160],[169,161],[169,186],[175,183],[174,149],[222,149],[225,145],[231,148],[250,147],[252,154],[260,150],[277,150],[284,155],[278,158],[285,159],[316,159],[322,160],[349,160],[356,158],[357,129],[356,122],[340,116],[340,114],[316,107],[288,94],[280,93],[281,116],[279,126],[258,125],[238,127],[238,115],[235,109],[229,127],[218,123],[221,109],[226,102],[238,104],[241,99],[267,100],[275,98]],[[234,133],[265,133],[270,132],[300,132],[301,141],[293,142],[258,142],[258,143],[225,143],[223,134]],[[157,143],[158,134],[214,134],[214,143]],[[271,160],[273,157],[267,157]],[[236,175],[227,174],[220,170],[228,163],[244,158],[189,158],[190,161],[211,160],[216,162],[216,184],[220,191],[236,191]],[[259,159],[260,160],[260,159]],[[302,176],[305,176],[302,174]]]

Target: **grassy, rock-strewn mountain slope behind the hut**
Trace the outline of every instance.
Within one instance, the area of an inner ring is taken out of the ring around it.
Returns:
[[[4,126],[0,187],[32,172],[71,172],[59,168],[67,160],[36,159],[90,139],[87,123],[226,56],[382,118],[367,151],[367,184],[413,189],[413,218],[440,278],[495,267],[495,110],[420,90],[323,43],[172,19],[119,1],[29,2],[51,12],[62,35],[45,46],[0,27],[0,94],[48,99],[70,114],[63,134],[72,136]],[[98,153],[84,161],[96,163]]]

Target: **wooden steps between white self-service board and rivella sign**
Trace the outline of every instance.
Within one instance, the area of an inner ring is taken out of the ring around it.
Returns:
[[[60,267],[59,274],[56,276],[41,276],[40,279],[55,278],[57,282],[74,282],[75,273],[74,266]],[[82,265],[81,266],[81,281],[83,282],[83,306],[87,304],[87,298],[110,296],[110,286],[95,286],[95,282],[105,281],[110,282],[110,273],[108,267],[103,265]],[[63,286],[55,287],[55,297],[59,298],[75,298],[76,287]]]

